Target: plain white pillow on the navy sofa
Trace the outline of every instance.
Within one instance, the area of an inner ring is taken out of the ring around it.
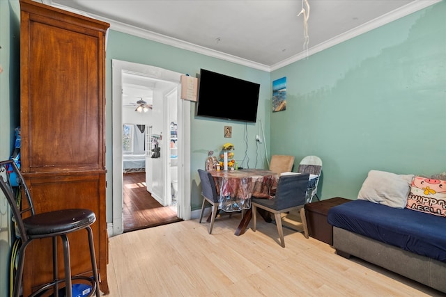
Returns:
[[[413,177],[414,175],[370,170],[357,199],[402,209],[406,207]]]

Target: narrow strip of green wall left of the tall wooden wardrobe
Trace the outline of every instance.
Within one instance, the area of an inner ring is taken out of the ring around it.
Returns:
[[[13,152],[14,128],[20,125],[20,6],[0,0],[0,160]],[[0,296],[9,294],[10,210],[0,194]]]

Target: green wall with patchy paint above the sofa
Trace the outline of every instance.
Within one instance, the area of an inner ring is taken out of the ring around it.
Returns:
[[[271,152],[320,156],[322,199],[357,198],[371,169],[445,172],[445,15],[442,1],[272,72],[287,107],[271,115]]]

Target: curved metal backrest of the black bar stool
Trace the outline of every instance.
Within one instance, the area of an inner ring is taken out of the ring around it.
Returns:
[[[22,216],[34,216],[34,207],[29,188],[15,161],[0,161],[0,188],[13,211],[17,230],[20,232],[16,235],[20,235],[22,242],[27,241],[29,238],[26,235]]]

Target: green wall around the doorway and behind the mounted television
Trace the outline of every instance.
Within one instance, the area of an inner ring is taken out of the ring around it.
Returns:
[[[235,159],[242,163],[245,150],[249,157],[249,163],[245,161],[244,166],[249,168],[265,167],[266,157],[264,147],[257,147],[255,136],[261,135],[261,125],[265,130],[266,137],[269,131],[270,118],[270,74],[261,70],[255,70],[223,61],[192,51],[178,49],[169,45],[139,38],[134,35],[111,30],[107,40],[106,52],[106,97],[107,97],[107,222],[112,220],[112,59],[129,61],[161,67],[174,72],[187,73],[196,77],[200,68],[220,72],[232,77],[238,77],[247,81],[261,84],[259,97],[258,120],[256,124],[244,124],[243,122],[214,120],[210,118],[195,117],[195,103],[192,103],[191,111],[191,179],[192,210],[201,208],[201,195],[197,184],[199,176],[197,169],[204,168],[204,162],[209,150],[219,153],[221,146],[226,142],[235,145]],[[240,109],[240,106],[226,106],[224,102],[216,102],[216,109]],[[224,138],[224,126],[232,126],[232,138]],[[245,136],[246,134],[246,136]],[[245,139],[247,140],[245,142]],[[121,141],[119,139],[118,141]]]

